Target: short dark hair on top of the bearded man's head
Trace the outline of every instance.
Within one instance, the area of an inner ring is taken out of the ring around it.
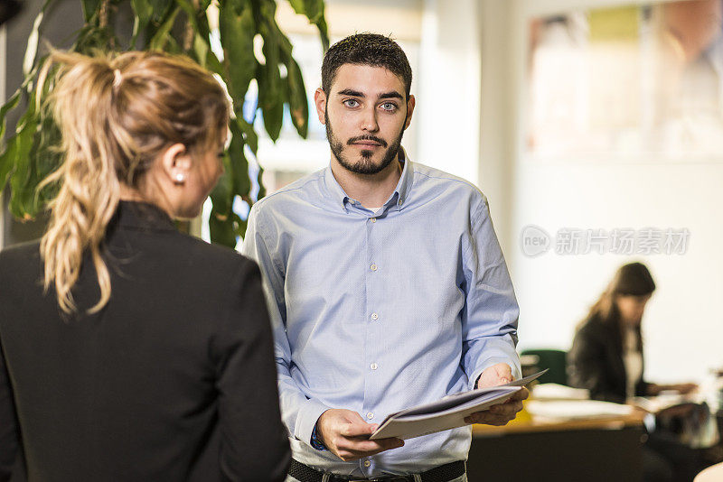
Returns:
[[[345,63],[383,67],[404,82],[409,98],[412,87],[412,68],[399,44],[379,33],[356,33],[334,43],[324,55],[322,88],[328,96],[336,71]]]

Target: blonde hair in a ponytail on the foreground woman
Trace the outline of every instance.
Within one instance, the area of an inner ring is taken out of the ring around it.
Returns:
[[[229,105],[221,85],[192,60],[154,52],[89,57],[53,51],[38,79],[60,69],[49,99],[61,129],[61,167],[41,187],[59,183],[41,241],[44,287],[54,286],[61,311],[77,311],[72,289],[88,253],[110,300],[103,240],[121,184],[138,187],[152,162],[172,144],[202,151],[225,132]],[[149,199],[150,200],[150,199]]]

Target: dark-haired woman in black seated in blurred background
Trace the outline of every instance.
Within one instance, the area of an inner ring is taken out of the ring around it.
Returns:
[[[655,283],[642,263],[621,266],[580,324],[568,353],[569,383],[590,398],[624,403],[663,390],[688,394],[695,384],[656,385],[643,380],[641,320]]]

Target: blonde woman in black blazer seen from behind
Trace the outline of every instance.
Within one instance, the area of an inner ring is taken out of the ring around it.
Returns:
[[[173,222],[221,175],[223,89],[159,53],[52,63],[52,219],[0,253],[0,480],[283,480],[258,267]]]

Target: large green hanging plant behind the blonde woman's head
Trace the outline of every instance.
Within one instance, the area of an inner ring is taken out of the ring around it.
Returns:
[[[38,184],[61,162],[60,131],[50,111],[37,107],[39,89],[47,98],[53,79],[36,85],[37,74],[47,55],[39,55],[43,15],[54,0],[46,0],[35,18],[23,60],[23,84],[0,107],[0,141],[5,138],[5,117],[23,105],[26,110],[0,150],[0,193],[10,187],[10,212],[16,218],[32,219],[52,199],[52,187],[38,190]],[[304,14],[319,30],[324,50],[329,46],[323,0],[288,0],[296,14]],[[246,231],[246,222],[232,207],[236,199],[253,203],[250,197],[247,153],[256,156],[258,134],[254,130],[260,109],[264,128],[276,141],[281,131],[285,106],[296,132],[306,137],[308,104],[304,79],[292,55],[292,44],[278,27],[275,0],[82,0],[84,25],[77,32],[70,51],[92,54],[97,51],[152,50],[183,53],[215,72],[225,82],[233,102],[231,140],[224,156],[225,173],[211,193],[211,241],[235,246]],[[133,27],[118,21],[118,12],[133,14]],[[219,55],[211,49],[211,14],[218,14],[221,43]],[[125,40],[124,40],[125,34]],[[254,52],[254,39],[263,41],[263,59]],[[251,114],[244,117],[244,101],[251,81],[258,95]],[[84,108],[79,106],[79,108]],[[248,148],[248,149],[247,149]],[[258,199],[264,196],[262,170],[258,171]]]

